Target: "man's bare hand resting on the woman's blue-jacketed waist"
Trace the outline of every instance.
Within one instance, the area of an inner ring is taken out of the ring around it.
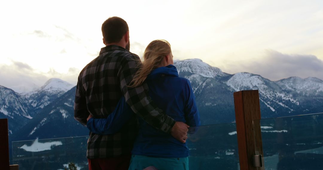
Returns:
[[[182,143],[185,143],[189,127],[190,126],[186,125],[183,122],[176,122],[175,125],[172,127],[171,135],[175,137],[175,139],[181,141]]]

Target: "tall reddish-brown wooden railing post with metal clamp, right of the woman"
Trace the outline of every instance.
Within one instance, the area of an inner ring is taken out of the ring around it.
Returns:
[[[262,155],[261,119],[258,90],[243,90],[233,93],[235,121],[238,138],[239,163],[241,170],[264,169],[253,166],[253,156]]]

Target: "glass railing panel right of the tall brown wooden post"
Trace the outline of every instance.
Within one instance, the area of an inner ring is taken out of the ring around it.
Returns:
[[[259,123],[266,170],[323,169],[323,113],[254,121]]]

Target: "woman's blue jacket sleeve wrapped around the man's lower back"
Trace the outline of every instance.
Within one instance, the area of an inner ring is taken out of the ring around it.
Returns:
[[[114,134],[118,132],[132,116],[134,116],[134,113],[122,96],[116,108],[109,114],[108,118],[90,118],[86,126],[91,132],[96,134]]]

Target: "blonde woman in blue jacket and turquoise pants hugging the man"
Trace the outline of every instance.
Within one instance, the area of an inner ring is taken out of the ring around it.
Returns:
[[[149,95],[158,108],[175,121],[192,127],[199,126],[200,115],[191,83],[178,77],[169,42],[152,41],[147,46],[143,59],[141,69],[136,73],[130,87],[136,87],[145,81]],[[133,113],[122,98],[109,118],[89,118],[87,126],[93,133],[115,133],[131,116]],[[129,170],[142,170],[149,166],[158,170],[187,170],[189,149],[186,143],[155,129],[142,118],[138,117],[138,120],[139,130],[131,151]]]

